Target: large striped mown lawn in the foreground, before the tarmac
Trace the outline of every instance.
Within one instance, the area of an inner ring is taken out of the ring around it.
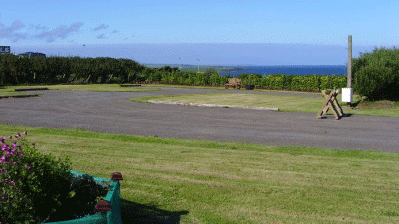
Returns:
[[[124,223],[398,223],[399,154],[0,124],[73,169],[123,174]],[[139,209],[139,210],[137,210]]]

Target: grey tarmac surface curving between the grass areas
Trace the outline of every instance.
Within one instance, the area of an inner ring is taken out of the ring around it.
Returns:
[[[42,94],[41,97],[1,99],[0,123],[167,138],[399,152],[399,118],[352,115],[335,120],[331,115],[326,119],[316,119],[313,113],[128,101],[149,95],[213,92],[237,90],[162,88],[153,92],[38,91],[35,93]],[[288,92],[262,94],[298,95]],[[321,94],[299,95],[321,97]]]

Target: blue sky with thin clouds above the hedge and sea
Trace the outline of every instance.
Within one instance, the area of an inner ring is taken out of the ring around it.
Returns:
[[[345,65],[399,43],[397,0],[3,0],[14,53],[139,63]]]

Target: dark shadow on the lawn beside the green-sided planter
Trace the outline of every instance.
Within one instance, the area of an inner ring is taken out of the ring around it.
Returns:
[[[178,224],[180,223],[181,216],[188,213],[188,211],[166,211],[153,205],[143,205],[121,199],[123,223]]]

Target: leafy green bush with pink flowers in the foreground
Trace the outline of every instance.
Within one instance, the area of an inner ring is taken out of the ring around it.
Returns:
[[[44,222],[70,197],[68,159],[42,154],[20,134],[1,143],[0,222]]]

